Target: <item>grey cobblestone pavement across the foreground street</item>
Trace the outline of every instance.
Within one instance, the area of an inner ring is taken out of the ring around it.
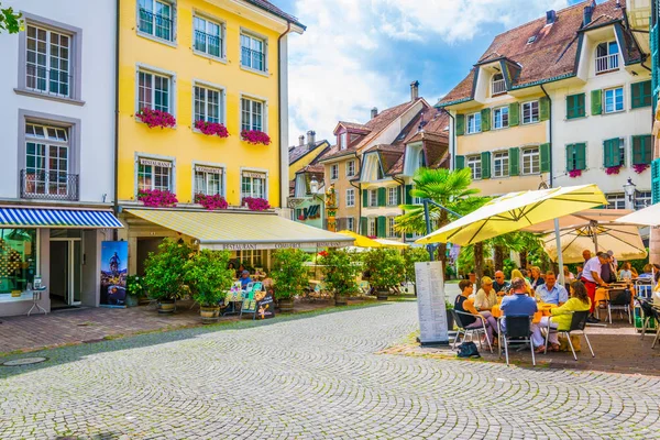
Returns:
[[[46,351],[0,367],[0,438],[660,438],[658,377],[377,354],[416,317],[395,302]]]

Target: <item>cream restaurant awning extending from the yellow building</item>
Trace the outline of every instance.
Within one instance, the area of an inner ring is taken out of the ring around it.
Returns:
[[[353,239],[271,212],[127,209],[135,217],[199,240],[200,249],[341,248]]]

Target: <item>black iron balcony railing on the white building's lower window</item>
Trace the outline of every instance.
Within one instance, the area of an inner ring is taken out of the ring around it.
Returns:
[[[21,169],[21,198],[78,200],[78,175]]]

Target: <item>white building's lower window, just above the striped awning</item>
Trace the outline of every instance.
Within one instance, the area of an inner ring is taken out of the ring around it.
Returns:
[[[77,179],[69,175],[68,129],[25,124],[25,175],[22,197],[76,199]]]

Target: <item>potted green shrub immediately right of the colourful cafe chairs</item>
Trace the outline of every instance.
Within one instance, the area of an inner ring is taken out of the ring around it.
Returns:
[[[307,255],[299,249],[279,249],[273,252],[273,290],[280,311],[294,310],[294,297],[309,284],[305,262]]]

